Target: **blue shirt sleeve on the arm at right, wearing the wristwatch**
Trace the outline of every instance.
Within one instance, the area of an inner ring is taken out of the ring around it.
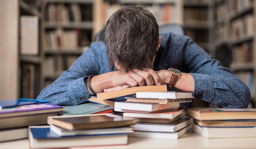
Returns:
[[[195,81],[193,95],[220,107],[246,108],[251,96],[248,86],[193,40],[188,38],[186,44],[184,63]]]

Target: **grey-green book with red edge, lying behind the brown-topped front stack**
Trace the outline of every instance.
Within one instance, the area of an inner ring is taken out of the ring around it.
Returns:
[[[94,114],[94,113],[112,113],[112,106],[107,106],[99,103],[87,102],[76,106],[64,106],[62,116],[69,115],[82,115],[82,114]]]

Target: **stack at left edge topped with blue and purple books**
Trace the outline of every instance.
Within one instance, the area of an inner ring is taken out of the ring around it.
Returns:
[[[48,116],[57,116],[62,106],[36,99],[0,101],[0,142],[28,137],[28,126],[47,124]]]

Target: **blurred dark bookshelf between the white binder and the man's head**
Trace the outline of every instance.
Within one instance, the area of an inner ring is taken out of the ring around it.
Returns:
[[[43,6],[43,85],[87,50],[93,34],[93,0],[48,0]]]

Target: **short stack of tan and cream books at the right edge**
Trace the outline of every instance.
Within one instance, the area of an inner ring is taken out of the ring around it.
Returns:
[[[207,138],[256,137],[256,109],[187,108],[194,119],[192,130]]]

